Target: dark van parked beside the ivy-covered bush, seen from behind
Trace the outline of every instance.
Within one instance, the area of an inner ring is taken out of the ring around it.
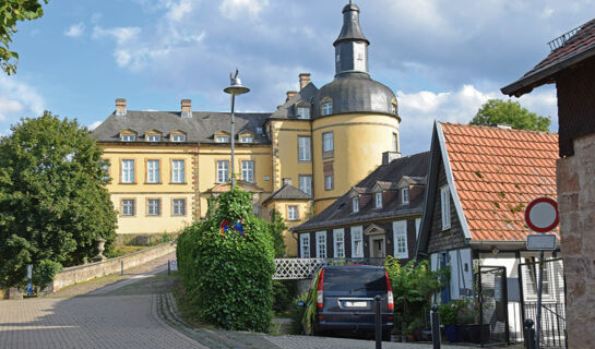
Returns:
[[[304,327],[311,334],[374,334],[374,297],[380,296],[382,337],[389,340],[394,321],[391,281],[384,267],[322,267],[312,282]]]

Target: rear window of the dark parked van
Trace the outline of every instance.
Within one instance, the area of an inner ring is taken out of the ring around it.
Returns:
[[[386,291],[384,269],[324,269],[325,291]]]

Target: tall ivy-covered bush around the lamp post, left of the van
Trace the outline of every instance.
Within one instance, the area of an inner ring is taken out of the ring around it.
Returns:
[[[271,323],[273,241],[269,225],[252,214],[250,194],[239,189],[219,195],[207,219],[178,239],[185,289],[201,321],[227,329],[265,332]],[[243,236],[219,232],[224,219],[243,218]]]

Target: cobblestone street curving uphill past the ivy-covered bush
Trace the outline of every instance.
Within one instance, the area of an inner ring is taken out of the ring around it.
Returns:
[[[164,272],[167,260],[174,257],[50,297],[0,301],[0,348],[374,348],[370,340],[191,328],[179,316],[170,293],[175,278]],[[383,342],[383,348],[431,346]]]

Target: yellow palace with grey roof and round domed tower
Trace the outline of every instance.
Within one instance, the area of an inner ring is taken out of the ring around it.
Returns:
[[[238,185],[253,193],[254,213],[281,212],[287,227],[322,212],[382,163],[400,156],[394,93],[368,72],[369,41],[359,9],[343,9],[335,47],[335,77],[318,88],[299,74],[274,112],[128,110],[123,98],[94,130],[109,160],[108,191],[119,212],[118,233],[174,232],[204,218],[209,197],[230,188],[230,137]],[[287,231],[287,254],[297,240]]]

